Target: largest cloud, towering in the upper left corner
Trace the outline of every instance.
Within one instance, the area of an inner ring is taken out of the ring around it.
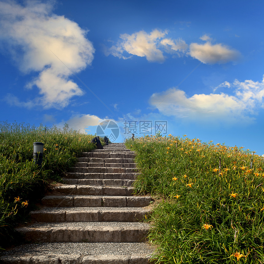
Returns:
[[[87,32],[76,22],[52,13],[51,3],[27,1],[24,7],[15,1],[0,2],[0,41],[21,72],[40,72],[27,85],[40,89],[38,103],[61,108],[72,96],[83,94],[69,76],[91,65],[95,50],[85,37]]]

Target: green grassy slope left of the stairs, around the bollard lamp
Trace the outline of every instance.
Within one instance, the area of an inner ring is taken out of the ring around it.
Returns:
[[[0,249],[14,243],[14,227],[25,221],[48,186],[90,151],[94,135],[56,126],[0,122]],[[42,167],[33,161],[33,142],[44,143]],[[104,144],[102,142],[102,144]]]

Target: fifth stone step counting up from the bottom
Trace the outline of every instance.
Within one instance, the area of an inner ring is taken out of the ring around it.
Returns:
[[[59,185],[54,191],[68,195],[106,195],[131,196],[134,188],[130,186],[93,186],[93,185]]]

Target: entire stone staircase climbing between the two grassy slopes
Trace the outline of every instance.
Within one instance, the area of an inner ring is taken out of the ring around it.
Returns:
[[[138,174],[134,152],[123,143],[83,153],[64,183],[17,228],[27,244],[8,250],[0,263],[146,264],[151,197],[132,196]]]

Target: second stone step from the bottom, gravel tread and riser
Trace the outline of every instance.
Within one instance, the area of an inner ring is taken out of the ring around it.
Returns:
[[[16,228],[25,241],[52,242],[145,242],[149,231],[146,223],[35,223]]]

